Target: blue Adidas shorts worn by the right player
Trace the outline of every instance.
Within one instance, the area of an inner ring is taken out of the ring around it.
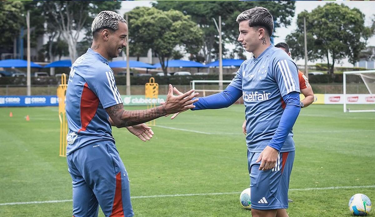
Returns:
[[[295,151],[279,152],[275,168],[266,171],[259,170],[261,161],[255,163],[260,153],[248,151],[251,208],[286,209]]]

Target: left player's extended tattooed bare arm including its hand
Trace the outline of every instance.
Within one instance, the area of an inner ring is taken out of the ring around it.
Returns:
[[[198,98],[194,98],[199,95],[199,93],[193,93],[194,90],[189,90],[188,92],[174,96],[173,87],[169,84],[168,95],[166,97],[165,104],[159,105],[157,107],[148,108],[146,110],[124,110],[122,103],[113,105],[106,108],[108,115],[112,120],[112,125],[121,128],[129,127],[137,124],[142,124],[147,121],[159,118],[172,113],[177,113],[184,111],[186,109],[194,108],[194,102],[198,101]],[[194,99],[193,99],[194,98]]]

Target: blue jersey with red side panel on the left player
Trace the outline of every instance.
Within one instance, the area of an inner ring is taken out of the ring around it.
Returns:
[[[72,65],[66,90],[66,155],[99,140],[111,140],[105,108],[123,103],[108,60],[91,48]]]

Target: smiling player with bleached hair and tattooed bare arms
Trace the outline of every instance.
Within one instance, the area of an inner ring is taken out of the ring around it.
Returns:
[[[73,184],[73,216],[130,217],[129,178],[118,154],[111,126],[122,128],[147,141],[154,134],[145,122],[194,108],[198,96],[190,90],[173,95],[169,84],[166,103],[147,110],[124,110],[108,59],[127,46],[127,25],[113,11],[102,11],[92,23],[91,48],[72,64],[66,90],[69,132],[66,149]]]

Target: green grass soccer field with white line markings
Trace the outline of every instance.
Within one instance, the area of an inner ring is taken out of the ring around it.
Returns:
[[[187,111],[174,120],[157,119],[148,142],[114,128],[135,216],[251,216],[239,202],[249,186],[243,120],[243,105]],[[66,158],[58,156],[59,135],[57,107],[0,108],[0,216],[72,216],[71,177]],[[351,216],[348,202],[356,193],[375,202],[374,113],[310,105],[294,125],[294,140],[291,217]]]

